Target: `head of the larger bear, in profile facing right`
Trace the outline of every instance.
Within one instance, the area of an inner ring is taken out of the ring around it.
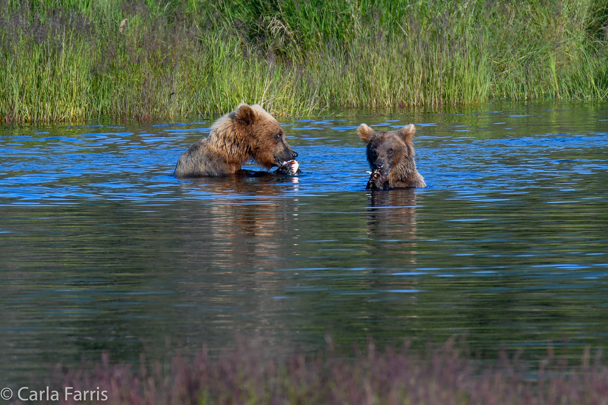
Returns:
[[[285,139],[285,131],[277,120],[261,106],[240,104],[233,112],[237,133],[247,134],[249,155],[264,168],[282,166],[298,154]]]

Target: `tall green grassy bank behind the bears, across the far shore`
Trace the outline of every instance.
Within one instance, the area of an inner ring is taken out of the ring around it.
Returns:
[[[606,99],[606,7],[0,0],[0,122]]]

